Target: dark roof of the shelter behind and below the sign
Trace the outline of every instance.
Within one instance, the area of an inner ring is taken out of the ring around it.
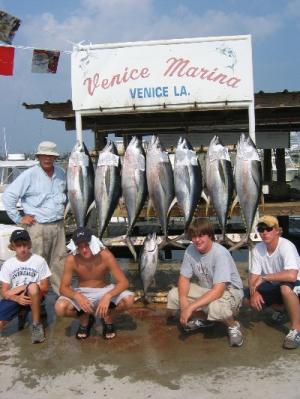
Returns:
[[[26,104],[26,109],[39,109],[44,118],[62,121],[66,130],[75,129],[75,112],[72,101],[61,103]],[[255,94],[256,132],[290,132],[300,130],[300,92]],[[97,132],[116,132],[118,135],[145,132],[157,133],[219,133],[248,131],[248,110],[226,108],[189,111],[162,110],[82,116],[83,129]]]

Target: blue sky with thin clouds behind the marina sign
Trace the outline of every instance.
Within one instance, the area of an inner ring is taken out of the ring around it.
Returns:
[[[75,143],[64,123],[22,103],[71,99],[74,43],[252,35],[255,92],[300,90],[300,0],[0,0],[22,20],[14,46],[62,51],[56,74],[31,73],[32,50],[15,50],[14,75],[0,76],[0,153],[32,152],[43,140],[61,152]],[[1,42],[0,42],[1,44]],[[84,131],[93,148],[93,134]]]

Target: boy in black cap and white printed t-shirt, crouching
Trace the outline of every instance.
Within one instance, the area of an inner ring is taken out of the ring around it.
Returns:
[[[0,301],[0,329],[20,313],[31,310],[32,343],[43,342],[41,301],[48,291],[51,272],[44,258],[31,253],[31,240],[26,230],[13,231],[9,248],[16,252],[16,256],[6,260],[0,270],[3,298]]]

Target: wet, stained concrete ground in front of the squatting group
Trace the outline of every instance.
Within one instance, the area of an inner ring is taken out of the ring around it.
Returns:
[[[117,318],[115,339],[102,338],[97,320],[78,341],[78,321],[57,319],[55,299],[46,299],[44,343],[32,345],[16,320],[2,331],[1,399],[299,398],[300,349],[282,349],[289,324],[272,325],[270,310],[241,310],[240,348],[228,346],[219,323],[187,335],[167,320],[165,304],[140,302]]]

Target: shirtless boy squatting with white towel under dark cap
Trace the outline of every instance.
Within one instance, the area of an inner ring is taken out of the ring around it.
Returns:
[[[113,254],[86,228],[78,228],[72,237],[76,246],[65,261],[60,285],[61,296],[55,304],[58,316],[79,317],[76,338],[90,335],[94,316],[103,323],[103,337],[114,338],[113,316],[129,309],[134,302],[128,291],[128,280]],[[72,287],[72,277],[78,277],[78,287]],[[108,282],[112,275],[115,283]]]

